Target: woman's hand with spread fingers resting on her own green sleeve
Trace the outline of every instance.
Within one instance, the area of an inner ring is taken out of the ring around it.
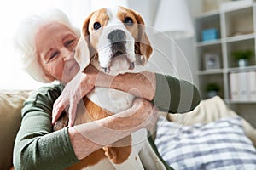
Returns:
[[[95,67],[89,65],[85,73],[79,72],[67,83],[61,95],[56,99],[52,111],[52,124],[59,119],[62,111],[68,107],[68,126],[73,126],[79,101],[95,87],[97,72]]]

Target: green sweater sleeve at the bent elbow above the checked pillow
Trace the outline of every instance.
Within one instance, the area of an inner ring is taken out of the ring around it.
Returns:
[[[194,110],[200,101],[195,85],[175,77],[156,74],[153,103],[160,111],[184,113]]]

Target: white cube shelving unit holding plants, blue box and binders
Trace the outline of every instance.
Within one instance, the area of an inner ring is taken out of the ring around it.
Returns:
[[[196,75],[198,77],[198,87],[201,99],[207,99],[207,85],[217,83],[220,87],[218,95],[230,105],[231,109],[241,114],[254,114],[256,100],[241,100],[244,99],[242,98],[244,96],[238,96],[237,99],[240,100],[234,100],[236,99],[232,96],[234,94],[231,95],[231,90],[234,90],[234,88],[237,88],[237,90],[241,89],[238,86],[244,84],[246,86],[243,87],[247,87],[247,90],[254,90],[254,88],[250,88],[255,87],[254,83],[256,82],[252,78],[254,77],[254,73],[244,73],[247,77],[240,79],[244,82],[235,83],[235,86],[233,85],[232,87],[230,86],[230,75],[233,77],[236,74],[232,73],[236,72],[240,76],[243,75],[241,72],[256,72],[256,3],[237,5],[236,8],[233,7],[227,6],[226,8],[229,8],[228,10],[214,10],[195,16],[195,51],[198,65]],[[211,28],[218,31],[218,39],[202,42],[204,39],[202,38],[202,31]],[[248,66],[241,68],[238,67],[233,52],[244,50],[252,50],[253,57],[248,60]],[[214,58],[212,57],[212,60],[207,60],[209,56],[217,56],[219,66],[215,65],[214,67]],[[212,68],[219,69],[208,69],[210,68],[208,67],[209,65],[213,65]],[[241,91],[239,93],[239,95],[242,95]],[[247,99],[255,98],[254,96],[250,96]]]

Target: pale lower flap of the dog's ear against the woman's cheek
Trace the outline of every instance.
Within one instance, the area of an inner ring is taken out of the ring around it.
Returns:
[[[74,58],[78,62],[81,71],[84,71],[90,64],[89,47],[88,43],[84,40],[84,37],[80,37],[79,39]]]

